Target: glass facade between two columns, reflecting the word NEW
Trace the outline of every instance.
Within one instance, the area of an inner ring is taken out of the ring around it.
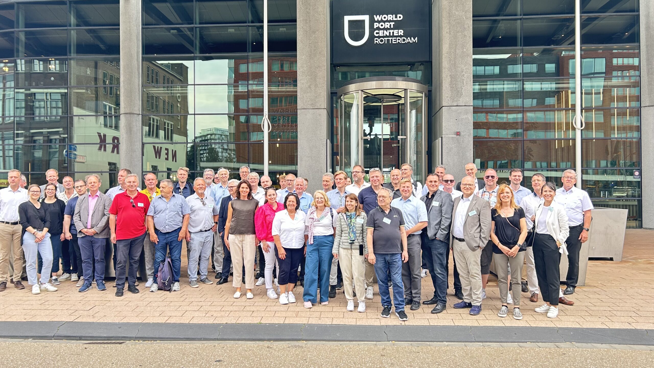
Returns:
[[[144,171],[262,172],[267,83],[271,179],[297,172],[296,1],[268,1],[267,81],[262,17],[263,0],[143,0]]]

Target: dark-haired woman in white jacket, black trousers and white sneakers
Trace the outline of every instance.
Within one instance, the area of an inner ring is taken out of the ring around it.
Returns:
[[[555,318],[559,314],[559,262],[561,253],[568,254],[568,215],[563,206],[553,201],[557,194],[553,183],[545,183],[541,193],[545,202],[538,206],[536,215],[532,216],[535,229],[532,241],[536,277],[545,304],[536,308],[536,312],[547,312],[547,317]]]

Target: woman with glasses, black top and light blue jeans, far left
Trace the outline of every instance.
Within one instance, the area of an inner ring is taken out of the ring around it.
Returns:
[[[32,285],[32,293],[39,294],[41,291],[57,291],[50,280],[50,269],[52,269],[52,244],[50,244],[50,215],[46,212],[43,204],[39,202],[41,188],[32,184],[27,188],[29,200],[18,206],[18,217],[23,228],[23,252],[25,253],[27,281]],[[37,280],[37,254],[43,258],[41,268],[41,284]]]

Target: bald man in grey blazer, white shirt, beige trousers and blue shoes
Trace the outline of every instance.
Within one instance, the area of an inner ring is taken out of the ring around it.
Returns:
[[[461,278],[463,301],[455,308],[470,308],[470,314],[481,312],[481,250],[490,236],[490,205],[475,196],[475,179],[461,180],[463,196],[454,200],[450,246]]]

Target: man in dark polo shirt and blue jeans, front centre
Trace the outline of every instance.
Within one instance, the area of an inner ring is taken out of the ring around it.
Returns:
[[[404,312],[404,284],[402,263],[409,260],[407,234],[404,230],[402,211],[390,206],[393,194],[388,188],[377,193],[377,206],[368,213],[368,261],[374,265],[379,285],[379,297],[383,310],[381,316],[388,318],[392,302],[388,290],[388,277],[394,284],[393,300],[395,314],[400,321],[407,320]]]

